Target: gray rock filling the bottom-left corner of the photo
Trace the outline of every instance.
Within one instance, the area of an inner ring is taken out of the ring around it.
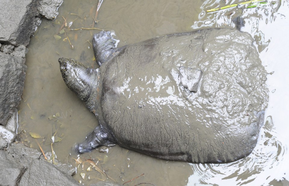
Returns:
[[[0,185],[17,185],[26,168],[2,150],[0,150],[0,159]]]

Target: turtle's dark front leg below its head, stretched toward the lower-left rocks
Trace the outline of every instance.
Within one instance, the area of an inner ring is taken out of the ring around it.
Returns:
[[[76,150],[79,153],[90,152],[98,146],[104,145],[111,147],[115,145],[114,139],[104,132],[101,125],[97,126],[92,133],[90,133],[83,143],[76,145]]]

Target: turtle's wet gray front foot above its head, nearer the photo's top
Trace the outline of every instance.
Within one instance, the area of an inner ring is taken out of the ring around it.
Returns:
[[[117,40],[113,39],[109,31],[101,31],[93,35],[93,51],[99,66],[119,53],[115,48],[116,42]]]

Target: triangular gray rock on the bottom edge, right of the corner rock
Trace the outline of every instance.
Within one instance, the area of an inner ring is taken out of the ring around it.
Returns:
[[[29,185],[81,185],[71,176],[59,171],[51,163],[34,159],[24,172],[19,186]]]

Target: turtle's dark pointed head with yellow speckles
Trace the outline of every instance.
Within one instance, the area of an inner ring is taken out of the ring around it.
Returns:
[[[65,84],[85,104],[98,86],[98,69],[92,69],[71,58],[59,58],[60,71]]]

